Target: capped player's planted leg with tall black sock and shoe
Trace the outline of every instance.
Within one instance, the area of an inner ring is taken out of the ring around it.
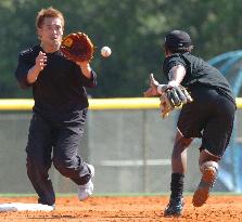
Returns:
[[[191,144],[193,138],[200,138],[203,129],[203,122],[206,119],[206,112],[201,103],[200,94],[192,94],[195,99],[192,103],[186,104],[178,119],[178,132],[171,156],[171,183],[170,183],[170,201],[165,209],[165,216],[179,216],[183,208],[183,183],[187,171],[187,147]]]

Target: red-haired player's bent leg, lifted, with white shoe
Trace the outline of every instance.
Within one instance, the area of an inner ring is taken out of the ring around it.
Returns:
[[[94,168],[78,155],[80,140],[86,121],[86,109],[77,123],[61,127],[54,132],[53,165],[61,174],[69,178],[78,185],[78,197],[87,199],[93,192],[91,179]]]

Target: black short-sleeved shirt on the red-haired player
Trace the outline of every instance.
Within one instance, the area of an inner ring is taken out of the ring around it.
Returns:
[[[47,53],[47,66],[40,71],[35,83],[27,83],[27,73],[35,65],[36,57],[42,51],[36,45],[21,52],[15,76],[22,88],[33,87],[34,110],[46,116],[65,114],[88,107],[85,87],[97,84],[97,75],[85,77],[78,65],[66,60],[60,51]]]

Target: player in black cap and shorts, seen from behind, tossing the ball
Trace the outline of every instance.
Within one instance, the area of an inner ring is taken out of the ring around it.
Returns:
[[[160,95],[167,87],[183,86],[191,93],[192,103],[182,106],[171,154],[170,199],[164,216],[180,216],[183,208],[183,181],[187,171],[187,148],[194,138],[202,139],[199,166],[201,182],[193,195],[193,206],[200,207],[208,198],[218,172],[218,162],[229,144],[233,128],[235,100],[226,78],[202,58],[191,54],[190,36],[173,30],[165,38],[163,70],[168,84],[154,78],[149,93]]]

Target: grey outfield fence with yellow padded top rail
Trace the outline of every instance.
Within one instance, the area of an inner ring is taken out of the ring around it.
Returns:
[[[95,167],[95,194],[169,192],[170,153],[179,110],[162,119],[158,99],[89,99],[90,108],[81,157]],[[214,191],[240,192],[242,99],[237,99],[234,133],[221,161]],[[25,146],[33,100],[0,100],[0,193],[35,193],[26,175]],[[189,148],[186,191],[194,191],[200,171],[200,140]],[[74,193],[76,185],[55,169],[50,177],[59,193]],[[3,180],[4,179],[4,180]]]

